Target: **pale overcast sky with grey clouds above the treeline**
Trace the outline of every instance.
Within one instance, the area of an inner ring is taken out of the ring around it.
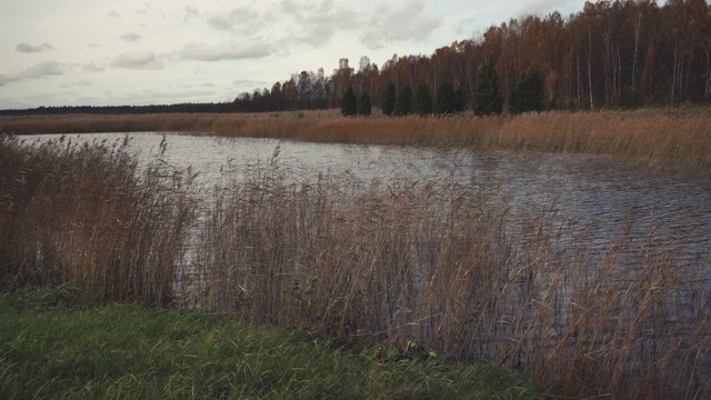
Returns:
[[[0,109],[231,101],[584,0],[2,0]]]

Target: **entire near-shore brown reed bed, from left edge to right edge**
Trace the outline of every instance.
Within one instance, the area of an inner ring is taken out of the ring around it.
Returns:
[[[138,171],[120,143],[0,146],[6,284],[316,327],[344,347],[432,348],[577,398],[711,394],[708,262],[655,248],[652,230],[640,243],[632,220],[593,253],[495,194],[299,180],[279,149],[201,200],[189,172]]]

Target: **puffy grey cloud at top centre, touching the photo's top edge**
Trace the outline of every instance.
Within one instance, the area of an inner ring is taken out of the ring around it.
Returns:
[[[424,0],[410,0],[400,9],[381,8],[373,14],[360,40],[371,49],[394,41],[420,41],[442,26],[442,21],[424,13]]]

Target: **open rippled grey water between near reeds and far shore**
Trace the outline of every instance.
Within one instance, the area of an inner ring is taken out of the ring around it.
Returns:
[[[27,136],[28,142],[58,134]],[[76,142],[122,141],[124,133],[77,134]],[[147,162],[158,154],[161,133],[133,133],[130,151]],[[400,179],[450,180],[503,194],[513,214],[544,216],[571,224],[593,249],[605,249],[631,221],[630,237],[677,252],[707,267],[711,249],[711,181],[648,173],[603,156],[520,152],[479,153],[467,149],[428,149],[361,144],[322,144],[273,139],[168,134],[162,158],[178,169],[192,167],[206,187],[240,179],[276,162],[294,180],[348,174],[363,184]],[[662,238],[662,239],[654,239]]]

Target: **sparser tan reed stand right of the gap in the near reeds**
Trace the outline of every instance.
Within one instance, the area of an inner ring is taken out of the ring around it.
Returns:
[[[287,184],[277,171],[216,198],[193,287],[209,309],[346,346],[417,341],[575,397],[711,390],[707,271],[651,241],[638,251],[624,227],[595,256],[451,183]]]

